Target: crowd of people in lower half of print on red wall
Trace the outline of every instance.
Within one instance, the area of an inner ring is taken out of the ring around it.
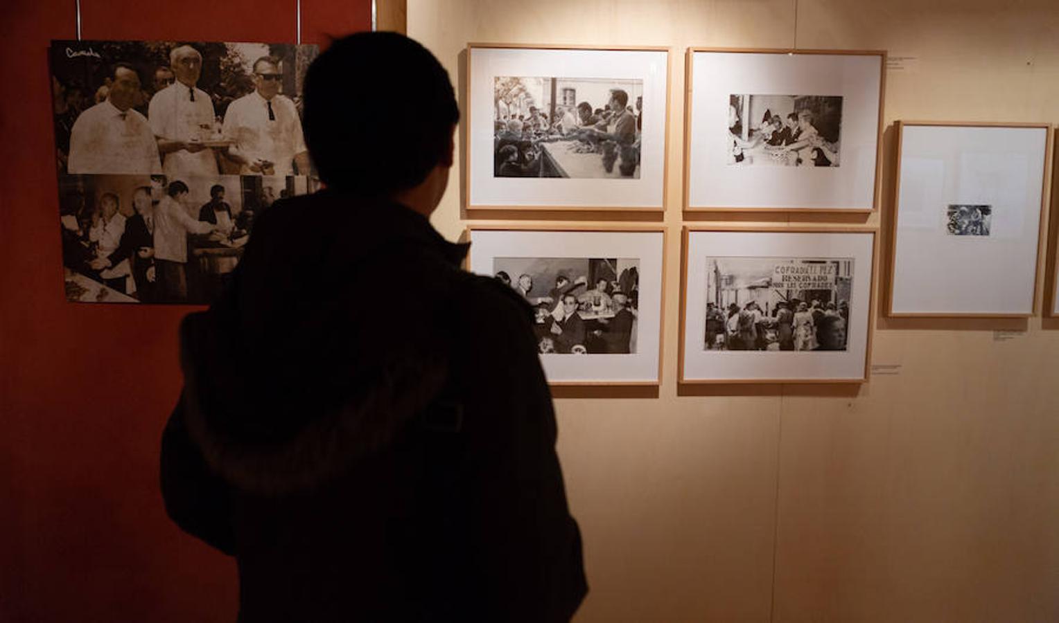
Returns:
[[[271,199],[265,195],[233,214],[220,184],[201,206],[190,195],[185,182],[166,183],[164,176],[134,188],[128,202],[116,193],[91,204],[84,191],[67,194],[60,206],[64,263],[140,303],[209,303],[235,268],[255,212]],[[195,261],[202,249],[231,251],[203,270]]]

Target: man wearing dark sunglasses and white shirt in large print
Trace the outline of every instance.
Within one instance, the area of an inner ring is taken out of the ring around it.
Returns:
[[[280,94],[280,61],[263,56],[253,70],[254,91],[233,102],[225,114],[225,138],[234,141],[229,158],[243,165],[245,176],[307,176],[302,120],[294,103]]]

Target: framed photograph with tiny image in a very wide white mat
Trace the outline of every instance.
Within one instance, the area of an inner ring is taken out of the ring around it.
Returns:
[[[1048,126],[896,129],[889,315],[1033,315]]]

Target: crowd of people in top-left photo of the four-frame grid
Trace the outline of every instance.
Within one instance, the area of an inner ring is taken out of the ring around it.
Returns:
[[[576,141],[577,150],[596,153],[607,173],[617,165],[622,177],[632,177],[640,164],[640,130],[643,124],[643,97],[635,108],[623,89],[612,89],[606,108],[593,108],[588,102],[556,106],[550,114],[530,106],[528,114],[501,114],[495,123],[493,175],[499,178],[556,177],[543,165],[541,145],[557,141]]]

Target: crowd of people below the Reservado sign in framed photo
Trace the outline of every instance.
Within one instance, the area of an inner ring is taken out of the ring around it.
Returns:
[[[706,350],[845,350],[849,305],[845,300],[821,304],[797,298],[780,300],[771,314],[756,301],[741,308],[729,305],[728,313],[706,304]]]

